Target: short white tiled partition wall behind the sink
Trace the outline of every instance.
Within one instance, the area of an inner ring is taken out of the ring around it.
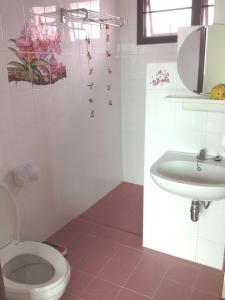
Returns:
[[[170,82],[154,85],[158,71]],[[207,148],[224,155],[223,113],[183,111],[182,104],[164,100],[167,95],[190,95],[181,83],[176,63],[147,66],[145,122],[144,245],[165,253],[222,268],[225,244],[225,200],[213,202],[190,220],[191,200],[160,189],[150,177],[150,166],[166,151],[197,153]]]

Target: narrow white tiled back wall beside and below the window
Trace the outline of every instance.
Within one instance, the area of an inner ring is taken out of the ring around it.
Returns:
[[[120,14],[126,20],[121,29],[123,176],[143,184],[146,65],[175,61],[176,44],[137,46],[137,1],[121,0]]]

